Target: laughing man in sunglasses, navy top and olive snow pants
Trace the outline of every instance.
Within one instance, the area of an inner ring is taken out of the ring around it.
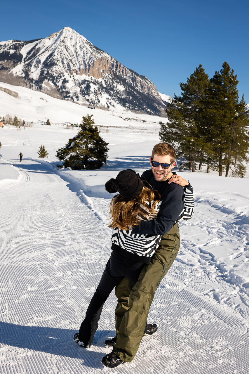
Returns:
[[[114,368],[123,362],[132,361],[144,332],[151,335],[157,330],[155,324],[147,325],[147,316],[154,293],[178,254],[180,246],[178,222],[191,218],[193,214],[193,201],[189,198],[192,187],[171,171],[176,165],[174,148],[167,143],[156,144],[150,163],[151,170],[145,171],[141,179],[159,191],[162,204],[157,217],[153,220],[141,221],[139,226],[134,227],[133,233],[163,236],[150,264],[141,271],[138,282],[132,290],[126,278],[116,287],[117,334],[112,340],[105,341],[106,346],[113,346],[113,351],[103,357],[101,362],[104,367]],[[184,197],[187,200],[185,203]],[[184,204],[187,206],[185,210]]]

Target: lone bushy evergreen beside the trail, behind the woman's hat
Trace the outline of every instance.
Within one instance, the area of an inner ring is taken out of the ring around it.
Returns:
[[[106,163],[108,143],[99,136],[98,128],[93,126],[92,116],[93,114],[83,116],[77,135],[69,139],[64,148],[58,149],[56,157],[63,161],[62,165],[57,165],[58,168],[64,166],[75,170],[92,170],[99,169]]]

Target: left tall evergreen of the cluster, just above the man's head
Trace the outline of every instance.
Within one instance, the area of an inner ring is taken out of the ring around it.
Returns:
[[[161,141],[174,145],[178,156],[188,160],[189,169],[196,170],[196,160],[202,162],[204,150],[209,149],[205,136],[200,135],[200,108],[206,89],[209,87],[208,75],[200,64],[187,83],[180,83],[182,93],[174,95],[165,112],[168,122],[160,122]]]

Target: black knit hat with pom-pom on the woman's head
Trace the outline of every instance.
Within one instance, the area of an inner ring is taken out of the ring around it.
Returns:
[[[105,183],[105,189],[109,193],[119,192],[124,201],[130,201],[138,197],[144,184],[140,177],[132,169],[126,169],[119,172],[117,177],[111,178]]]

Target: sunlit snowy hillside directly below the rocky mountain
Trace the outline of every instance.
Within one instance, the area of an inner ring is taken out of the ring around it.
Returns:
[[[18,94],[18,98],[1,91],[1,88],[9,89]],[[91,109],[84,105],[76,105],[73,102],[59,100],[45,93],[32,91],[21,86],[11,86],[0,82],[0,117],[10,114],[27,121],[45,121],[49,118],[52,123],[76,122],[80,123],[82,116],[93,114],[96,124],[100,125],[127,125],[142,123],[159,123],[158,116],[149,114],[135,114],[116,105],[111,110]],[[124,122],[126,121],[126,122]]]

